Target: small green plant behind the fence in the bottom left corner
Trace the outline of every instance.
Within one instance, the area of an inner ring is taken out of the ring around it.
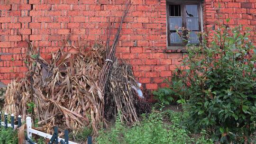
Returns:
[[[11,128],[0,127],[0,144],[18,144],[17,131]]]

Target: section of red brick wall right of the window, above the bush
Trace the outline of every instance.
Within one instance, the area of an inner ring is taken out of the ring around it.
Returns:
[[[219,2],[218,2],[219,1]],[[252,31],[256,31],[256,0],[205,0],[204,2],[204,29],[212,30],[215,25],[217,30],[217,12],[216,8],[220,6],[219,16],[220,22],[228,23],[229,27],[243,25],[243,30],[249,27]],[[211,38],[213,34],[209,35]],[[256,42],[256,36],[252,32],[252,39]]]

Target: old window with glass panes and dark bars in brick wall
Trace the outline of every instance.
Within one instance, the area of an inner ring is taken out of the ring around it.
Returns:
[[[188,42],[198,44],[197,33],[201,31],[201,5],[199,1],[168,2],[167,1],[167,43],[168,46],[183,47],[186,45],[177,34],[185,27],[190,32]],[[184,32],[186,33],[186,32]],[[183,33],[183,36],[185,34]],[[186,37],[184,37],[186,38]]]

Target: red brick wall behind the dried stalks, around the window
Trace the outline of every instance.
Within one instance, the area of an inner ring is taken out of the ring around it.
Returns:
[[[60,48],[61,40],[69,34],[72,45],[77,45],[78,37],[91,44],[99,38],[105,40],[107,16],[111,21],[120,19],[125,1],[0,0],[0,81],[9,83],[15,76],[24,76],[26,67],[20,52],[24,53],[26,40],[40,47],[45,58]],[[170,79],[183,54],[166,50],[166,0],[131,1],[117,56],[133,65],[144,88],[154,90]],[[256,0],[205,0],[205,31],[216,21],[217,1],[223,18],[231,17],[230,25],[244,24],[256,30]]]

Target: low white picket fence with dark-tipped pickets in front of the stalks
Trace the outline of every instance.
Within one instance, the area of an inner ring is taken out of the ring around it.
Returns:
[[[19,126],[21,126],[21,116],[18,116],[18,125],[14,125],[14,115],[13,114],[11,114],[11,124],[8,124],[8,122],[7,122],[8,118],[7,117],[8,117],[8,114],[5,113],[4,114],[4,122],[1,122],[1,112],[0,112],[0,124],[1,124],[1,126],[4,126],[5,128],[12,127],[13,129],[18,128]],[[60,144],[77,144],[77,143],[68,141],[68,130],[65,130],[64,138],[60,138],[60,137],[58,137],[58,128],[57,127],[55,127],[54,135],[49,135],[49,134],[46,134],[44,132],[33,129],[32,128],[31,117],[26,118],[26,124],[27,124],[26,144],[37,144],[37,143],[31,141],[32,134],[39,135],[39,136],[45,137],[47,139],[50,139],[49,144],[53,144],[54,142],[55,142],[55,144],[58,144],[58,143],[60,143]],[[88,137],[88,144],[92,144],[91,136]]]

